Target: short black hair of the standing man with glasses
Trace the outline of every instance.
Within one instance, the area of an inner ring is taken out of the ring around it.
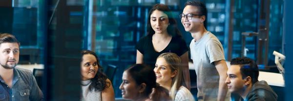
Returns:
[[[204,21],[204,26],[207,27],[207,7],[206,4],[201,2],[201,1],[195,1],[195,0],[191,0],[191,1],[187,1],[185,2],[185,6],[187,5],[191,5],[191,6],[196,6],[199,9],[199,14],[198,15],[204,15],[206,16],[206,20]]]

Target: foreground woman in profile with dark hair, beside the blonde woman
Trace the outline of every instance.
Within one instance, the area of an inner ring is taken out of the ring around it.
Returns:
[[[171,101],[168,90],[156,83],[155,72],[146,65],[128,67],[119,87],[124,99],[132,101]]]

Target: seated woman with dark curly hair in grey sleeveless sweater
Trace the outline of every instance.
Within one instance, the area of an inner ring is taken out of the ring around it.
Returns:
[[[81,101],[114,101],[114,90],[111,81],[99,69],[99,58],[95,52],[82,50]]]

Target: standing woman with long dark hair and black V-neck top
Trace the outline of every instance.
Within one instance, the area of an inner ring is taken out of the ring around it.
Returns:
[[[139,40],[136,49],[136,64],[144,63],[150,67],[155,67],[160,54],[176,53],[182,60],[184,78],[187,87],[190,88],[188,47],[167,5],[156,4],[150,9],[147,17],[147,35]]]

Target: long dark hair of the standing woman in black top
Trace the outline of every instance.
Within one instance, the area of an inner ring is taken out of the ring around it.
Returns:
[[[156,4],[154,5],[150,10],[149,10],[149,13],[148,13],[148,16],[147,16],[147,26],[146,26],[146,29],[147,29],[147,35],[153,35],[155,34],[155,31],[151,28],[151,25],[150,25],[150,15],[155,11],[155,10],[159,10],[159,11],[162,11],[164,12],[167,16],[168,16],[168,20],[169,20],[169,26],[167,27],[167,32],[169,35],[172,35],[172,36],[175,36],[175,37],[182,37],[180,31],[178,30],[178,27],[177,27],[177,23],[176,23],[176,20],[175,18],[172,16],[172,11],[169,9],[169,7],[165,4]]]

